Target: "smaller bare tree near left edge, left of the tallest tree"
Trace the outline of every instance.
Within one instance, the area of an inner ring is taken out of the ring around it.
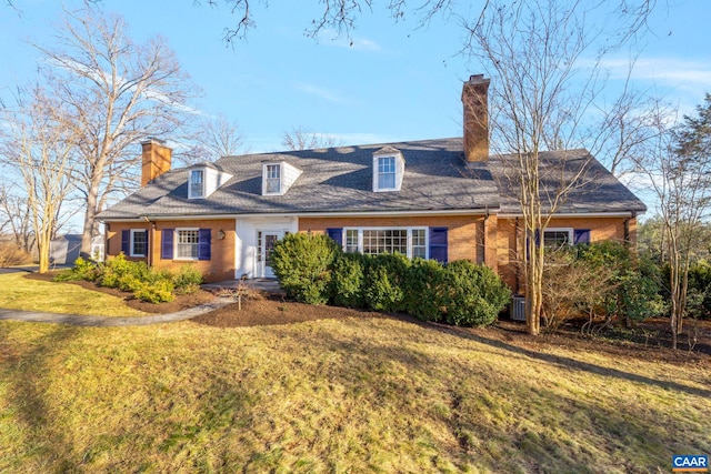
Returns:
[[[19,105],[18,110],[4,110],[8,130],[0,142],[0,155],[22,177],[39,251],[39,272],[44,273],[62,204],[73,189],[73,127],[61,103],[39,87],[32,90],[29,101]]]

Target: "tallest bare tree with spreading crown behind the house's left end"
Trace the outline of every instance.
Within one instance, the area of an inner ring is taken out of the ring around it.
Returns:
[[[52,47],[36,47],[74,125],[82,165],[73,180],[86,203],[81,249],[89,253],[97,214],[136,185],[137,144],[189,122],[193,111],[186,104],[196,91],[164,39],[137,44],[120,17],[89,3],[66,12]]]

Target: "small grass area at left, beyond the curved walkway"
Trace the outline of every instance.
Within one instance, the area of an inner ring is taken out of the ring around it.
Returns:
[[[62,314],[99,316],[144,316],[123,300],[86,290],[70,283],[53,283],[24,278],[24,272],[0,275],[0,307]]]

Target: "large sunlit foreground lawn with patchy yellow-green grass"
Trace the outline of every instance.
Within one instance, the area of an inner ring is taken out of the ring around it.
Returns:
[[[0,322],[0,472],[642,473],[711,454],[708,359],[495,334]]]

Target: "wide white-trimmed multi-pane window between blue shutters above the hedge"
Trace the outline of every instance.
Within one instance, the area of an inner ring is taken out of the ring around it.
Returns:
[[[427,228],[349,228],[343,230],[346,252],[365,255],[401,253],[427,259]]]

